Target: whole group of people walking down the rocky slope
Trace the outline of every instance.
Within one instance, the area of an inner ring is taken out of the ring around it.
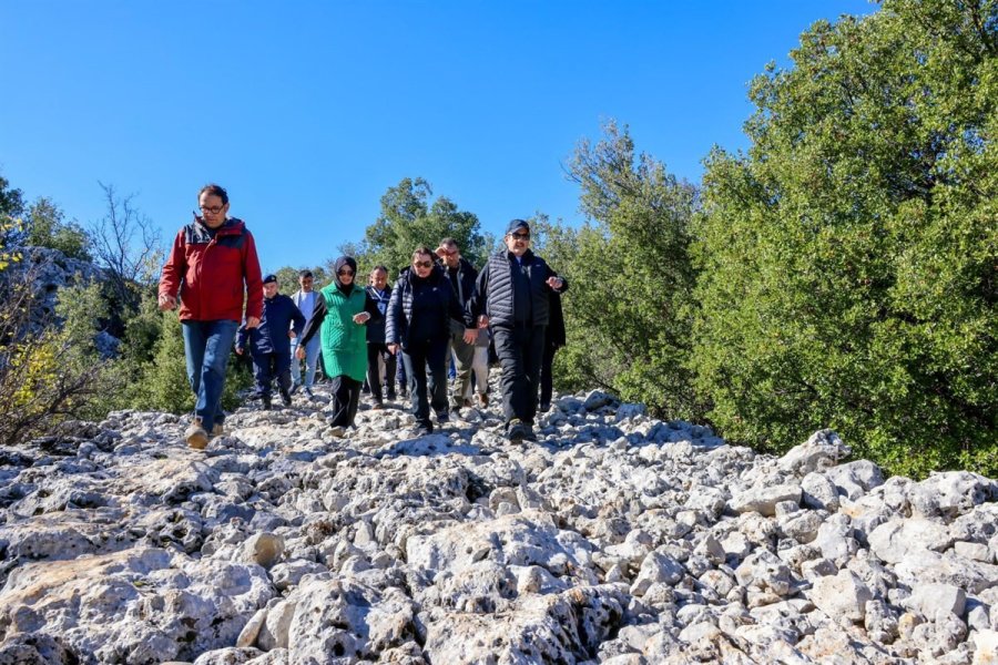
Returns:
[[[159,288],[160,309],[180,307],[195,396],[189,446],[204,449],[225,431],[222,392],[233,347],[252,359],[254,396],[264,409],[272,407],[274,383],[284,406],[297,390],[314,398],[322,360],[337,437],[354,427],[364,390],[374,409],[408,396],[417,436],[454,410],[486,407],[496,358],[506,436],[534,440],[537,412],[550,408],[554,351],[566,341],[568,282],[530,250],[527,222],[509,223],[505,247],[480,269],[448,237],[436,249],[415,247],[394,285],[380,265],[361,284],[357,262],[342,256],[330,284],[315,290],[313,274],[302,270],[299,290],[287,296],[275,275],[261,274],[253,235],[228,216],[226,191],[205,185],[197,204],[201,214],[177,232]]]

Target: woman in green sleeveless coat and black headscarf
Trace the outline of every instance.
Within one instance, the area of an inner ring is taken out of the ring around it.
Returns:
[[[340,256],[333,267],[336,273],[333,283],[319,291],[312,318],[298,342],[298,356],[304,356],[305,345],[318,331],[323,370],[333,383],[333,428],[346,429],[354,424],[360,386],[367,374],[365,325],[383,315],[364,287],[354,284],[356,260]]]

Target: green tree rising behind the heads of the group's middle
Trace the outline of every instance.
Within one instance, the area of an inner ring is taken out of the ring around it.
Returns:
[[[357,256],[357,266],[367,274],[378,264],[388,267],[389,278],[409,265],[413,250],[419,245],[435,248],[441,238],[452,237],[461,255],[480,266],[485,263],[490,239],[479,233],[478,217],[459,211],[445,196],[432,204],[432,190],[421,177],[403,178],[381,196],[381,215],[367,227]],[[332,274],[330,274],[332,277]]]

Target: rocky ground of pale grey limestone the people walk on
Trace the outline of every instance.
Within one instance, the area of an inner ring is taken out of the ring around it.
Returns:
[[[0,449],[0,665],[998,662],[998,483],[566,396],[330,434],[318,400]],[[496,401],[496,400],[493,400]]]

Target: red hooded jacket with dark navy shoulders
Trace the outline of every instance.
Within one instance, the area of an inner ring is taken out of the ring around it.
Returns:
[[[259,318],[259,259],[253,235],[242,219],[226,219],[214,237],[200,218],[177,232],[160,277],[160,295],[180,295],[181,320],[241,321],[246,293],[246,316]]]

